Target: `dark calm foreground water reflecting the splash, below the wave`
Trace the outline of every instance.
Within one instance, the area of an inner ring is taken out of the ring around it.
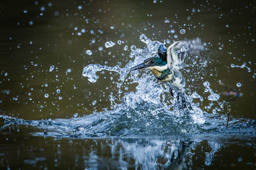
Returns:
[[[0,152],[3,167],[61,167],[91,169],[202,169],[255,167],[255,137],[230,134],[159,138],[58,139],[24,136],[28,127],[4,130]],[[16,132],[15,132],[16,131]],[[12,132],[15,136],[10,136]],[[211,136],[211,137],[210,137]],[[15,139],[22,139],[16,141]],[[35,142],[36,141],[36,142]],[[16,148],[4,148],[12,143]],[[242,154],[241,154],[242,153]],[[246,153],[246,154],[243,154]],[[17,155],[19,159],[17,159]],[[228,156],[227,156],[228,155]],[[12,164],[8,163],[12,162]]]

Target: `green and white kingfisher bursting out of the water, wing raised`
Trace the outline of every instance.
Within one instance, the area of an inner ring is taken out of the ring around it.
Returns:
[[[157,80],[164,82],[170,87],[170,93],[172,97],[177,99],[180,108],[193,110],[186,96],[185,78],[179,69],[186,67],[184,60],[188,52],[200,50],[204,50],[204,46],[202,46],[199,39],[176,41],[168,48],[161,44],[157,49],[159,57],[145,59],[141,64],[131,67],[131,71],[136,69],[150,70]]]

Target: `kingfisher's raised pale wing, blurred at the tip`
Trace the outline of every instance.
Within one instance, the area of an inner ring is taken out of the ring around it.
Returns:
[[[204,46],[200,39],[176,41],[167,48],[167,64],[171,69],[181,69],[184,67],[184,60],[188,53],[196,53],[203,50]]]

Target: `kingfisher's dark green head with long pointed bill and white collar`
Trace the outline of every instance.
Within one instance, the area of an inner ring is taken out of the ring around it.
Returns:
[[[134,66],[131,68],[131,71],[136,70],[136,69],[161,69],[161,67],[167,67],[167,62],[162,60],[159,57],[150,57],[146,60],[144,60],[144,62],[142,62],[141,64],[138,64],[137,66]],[[162,69],[161,69],[162,70]]]

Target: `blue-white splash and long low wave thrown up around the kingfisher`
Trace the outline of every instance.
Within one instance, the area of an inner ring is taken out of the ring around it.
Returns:
[[[102,66],[100,64],[90,64],[83,68],[83,76],[88,78],[88,81],[95,83],[99,76],[98,71],[107,70],[115,71],[119,74],[117,87],[120,89],[123,83],[136,84],[136,90],[125,94],[118,94],[118,101],[121,103],[111,102],[109,108],[101,112],[95,112],[86,117],[79,117],[75,114],[70,119],[55,119],[55,120],[22,120],[11,117],[3,117],[6,125],[21,124],[31,125],[37,128],[42,128],[47,131],[48,136],[62,137],[79,137],[79,138],[94,138],[108,136],[164,136],[173,134],[195,134],[205,131],[220,131],[216,129],[216,122],[223,124],[223,120],[211,120],[208,113],[200,109],[200,103],[193,103],[193,99],[204,99],[196,91],[188,96],[193,110],[180,110],[175,107],[175,102],[170,96],[169,89],[163,83],[157,81],[149,72],[131,71],[132,66],[136,66],[141,61],[148,57],[158,56],[157,49],[161,43],[159,41],[151,41],[144,34],[141,34],[140,40],[147,45],[144,49],[132,47],[130,57],[134,59],[129,61],[125,67],[120,66]],[[188,41],[193,42],[193,41]],[[198,42],[193,46],[180,46],[180,52],[188,55],[189,50],[198,50]],[[196,47],[197,46],[197,47]],[[193,73],[195,62],[198,67],[204,69],[207,66],[207,60],[196,55],[189,57],[187,69],[182,69],[184,72]],[[190,64],[189,64],[190,63]],[[192,67],[193,66],[193,67]],[[196,70],[197,71],[197,70]],[[142,72],[142,73],[141,73]],[[141,73],[141,74],[139,74]],[[129,75],[129,76],[128,76]],[[189,81],[202,81],[202,75],[193,74],[193,79]],[[124,81],[126,80],[126,81]],[[205,92],[210,92],[209,101],[218,101],[220,95],[213,92],[208,81],[204,82]],[[109,96],[113,101],[116,97],[111,94]],[[93,101],[93,106],[97,101]],[[216,114],[215,114],[216,115]],[[214,122],[214,123],[213,123]],[[236,123],[236,121],[234,122]],[[214,124],[214,125],[212,125]],[[232,124],[232,121],[230,121]],[[42,132],[35,135],[45,135]]]

